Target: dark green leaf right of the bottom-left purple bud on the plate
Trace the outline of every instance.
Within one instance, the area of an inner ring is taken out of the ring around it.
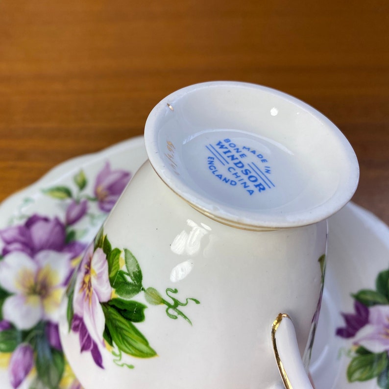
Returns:
[[[36,348],[35,366],[40,381],[49,389],[57,389],[65,367],[63,353],[51,348],[45,336],[39,337]]]

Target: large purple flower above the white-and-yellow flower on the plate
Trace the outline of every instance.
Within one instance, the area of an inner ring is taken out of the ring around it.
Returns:
[[[85,248],[78,242],[66,243],[65,225],[58,218],[49,219],[39,215],[31,216],[22,225],[1,230],[0,238],[4,242],[3,256],[14,251],[23,251],[34,257],[39,251],[52,250],[69,252],[72,258],[75,258]]]

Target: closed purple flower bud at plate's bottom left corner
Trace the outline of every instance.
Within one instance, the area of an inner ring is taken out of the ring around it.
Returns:
[[[20,344],[12,353],[8,366],[12,388],[19,388],[34,365],[34,351],[27,343]]]

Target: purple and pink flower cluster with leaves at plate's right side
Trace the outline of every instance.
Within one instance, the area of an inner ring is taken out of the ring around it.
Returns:
[[[376,380],[389,389],[389,269],[381,271],[375,289],[355,294],[354,312],[342,313],[344,327],[336,335],[352,341],[348,355],[348,382]]]

